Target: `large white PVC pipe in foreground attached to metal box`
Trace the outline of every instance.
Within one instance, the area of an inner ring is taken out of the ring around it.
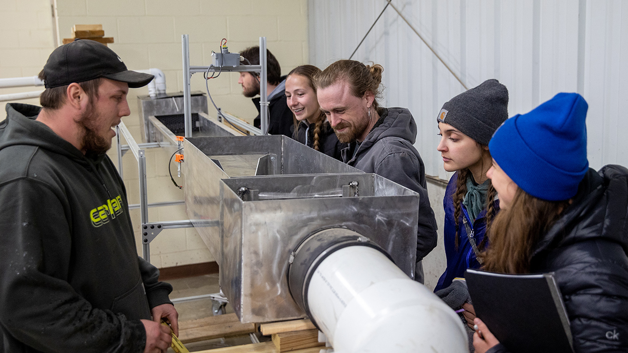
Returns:
[[[371,247],[329,255],[307,296],[334,352],[468,352],[460,317]]]

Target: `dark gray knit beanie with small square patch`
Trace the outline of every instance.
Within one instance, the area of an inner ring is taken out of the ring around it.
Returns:
[[[436,121],[445,122],[484,146],[508,119],[508,89],[498,80],[485,80],[443,104]]]

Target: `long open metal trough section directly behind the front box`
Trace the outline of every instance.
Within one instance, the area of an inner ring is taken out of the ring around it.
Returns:
[[[220,179],[234,176],[362,173],[286,136],[187,138],[183,143],[185,208],[198,234],[220,264]],[[220,165],[220,166],[219,166]]]

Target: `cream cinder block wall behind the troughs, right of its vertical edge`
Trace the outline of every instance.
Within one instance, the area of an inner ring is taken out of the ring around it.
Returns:
[[[220,40],[227,39],[231,52],[259,44],[266,36],[267,46],[276,55],[284,74],[305,63],[307,46],[307,6],[305,0],[215,1],[215,0],[57,0],[62,38],[69,38],[73,24],[102,24],[105,36],[114,37],[109,45],[131,69],[160,68],[168,92],[183,90],[181,35],[190,35],[190,65],[210,65],[212,50],[219,51]],[[250,99],[241,94],[238,73],[222,73],[208,82],[216,104],[249,122],[257,115]],[[192,90],[205,91],[201,74],[192,76]],[[138,142],[140,122],[138,95],[129,93],[131,116],[124,123]],[[209,102],[210,115],[214,108]],[[124,142],[123,142],[124,143]],[[168,160],[173,148],[146,150],[148,202],[183,200],[168,175]],[[114,158],[112,154],[112,158]],[[115,160],[115,159],[114,159]],[[131,153],[124,158],[124,183],[129,203],[139,203],[138,166]],[[176,166],[171,167],[176,178]],[[176,178],[185,187],[184,178]],[[141,254],[139,210],[131,210]],[[188,219],[183,205],[149,209],[149,221]],[[193,228],[167,229],[154,239],[151,263],[159,268],[214,261]]]

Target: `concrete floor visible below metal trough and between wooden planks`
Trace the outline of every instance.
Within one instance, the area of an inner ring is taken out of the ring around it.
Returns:
[[[204,274],[203,276],[179,278],[177,280],[168,280],[173,286],[170,299],[183,298],[186,296],[203,295],[210,293],[218,293],[220,290],[218,285],[218,274]],[[195,320],[197,318],[205,318],[213,315],[212,301],[210,299],[200,299],[194,301],[185,301],[183,303],[175,303],[176,311],[179,313],[179,321]],[[233,308],[229,304],[225,308],[227,313],[232,313]],[[261,337],[264,340],[264,337]],[[222,347],[230,347],[232,345],[250,344],[251,337],[249,335],[227,337],[222,339],[212,339],[200,342],[185,344],[190,352],[198,350],[214,349]],[[168,353],[174,353],[172,348],[168,349]]]

